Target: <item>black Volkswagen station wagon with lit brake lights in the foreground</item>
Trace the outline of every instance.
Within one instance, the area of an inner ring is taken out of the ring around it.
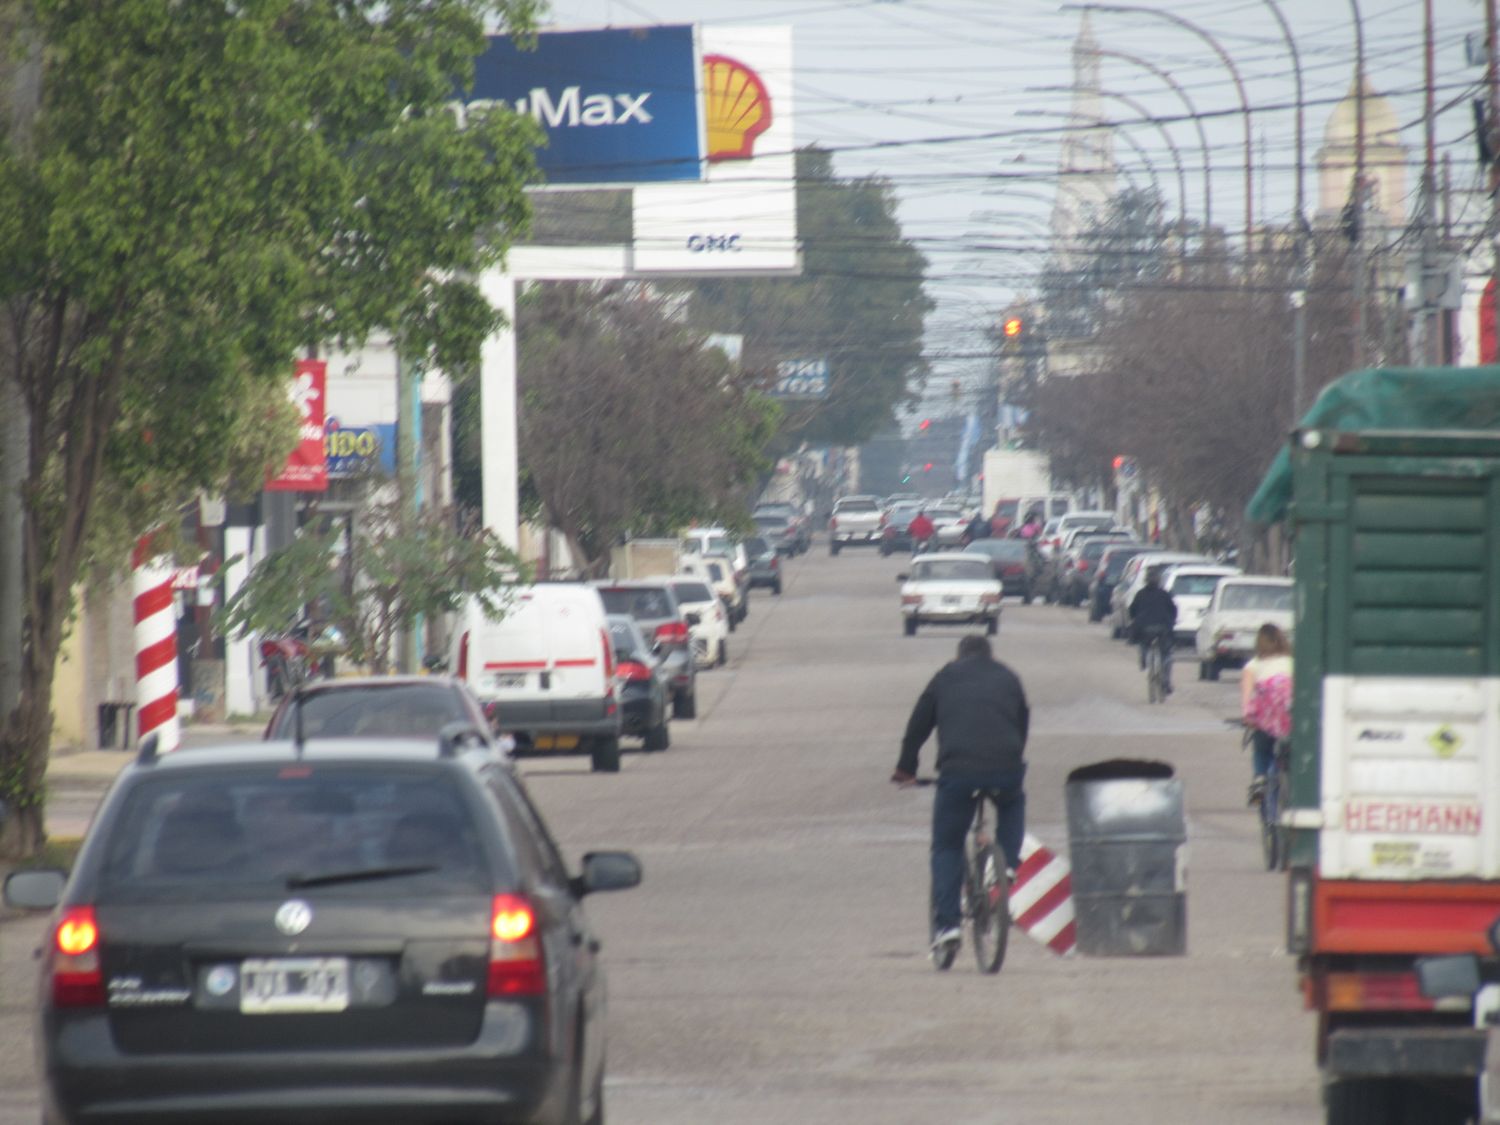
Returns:
[[[603,1114],[603,968],[514,772],[432,741],[252,742],[120,774],[42,950],[42,1118],[579,1122]]]

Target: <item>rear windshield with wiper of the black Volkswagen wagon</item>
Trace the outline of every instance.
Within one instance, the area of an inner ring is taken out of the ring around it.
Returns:
[[[306,879],[320,880],[318,894],[342,898],[432,897],[483,891],[489,868],[472,810],[436,770],[183,771],[126,796],[99,900],[284,897]]]

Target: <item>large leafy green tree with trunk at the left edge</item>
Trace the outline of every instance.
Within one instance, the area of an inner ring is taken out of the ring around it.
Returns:
[[[44,837],[52,669],[100,501],[130,492],[144,531],[236,470],[262,480],[292,430],[225,435],[268,429],[297,348],[384,326],[472,362],[494,314],[462,278],[525,220],[536,129],[447,102],[486,22],[525,32],[536,8],[0,0],[39,74],[33,110],[0,118],[0,386],[27,447],[12,846]]]

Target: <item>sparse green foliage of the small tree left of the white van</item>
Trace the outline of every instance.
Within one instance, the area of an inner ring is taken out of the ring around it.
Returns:
[[[315,604],[318,624],[344,636],[342,656],[387,672],[399,633],[466,597],[501,616],[524,578],[516,555],[471,518],[424,508],[404,530],[398,501],[366,502],[351,528],[312,520],[291,546],[261,560],[219,624],[236,638],[276,633]]]

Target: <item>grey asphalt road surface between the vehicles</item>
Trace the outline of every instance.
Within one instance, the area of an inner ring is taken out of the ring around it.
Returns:
[[[826,548],[756,591],[699,718],[618,776],[525,771],[564,849],[630,848],[640,888],[591,900],[610,972],[614,1125],[1304,1125],[1312,1020],[1260,870],[1233,676],[1144,702],[1082,610],[1008,602],[999,656],[1032,700],[1029,828],[1066,848],[1064,782],[1173,764],[1188,800],[1188,954],[1059,958],[1016,933],[999,976],[926,957],[930,790],[888,784],[906,714],[960,630],[900,634],[900,558]],[[930,766],[932,750],[924,753]],[[69,816],[80,801],[66,798]],[[58,808],[58,812],[64,812]],[[0,1125],[36,1122],[30,950],[0,926]]]

